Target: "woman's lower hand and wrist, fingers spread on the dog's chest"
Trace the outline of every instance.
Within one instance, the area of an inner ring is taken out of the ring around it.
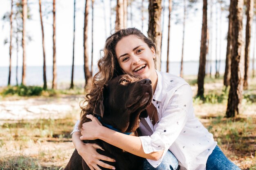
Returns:
[[[83,143],[83,141],[81,141],[80,139],[79,132],[73,133],[72,142],[79,155],[81,155],[81,157],[91,170],[100,170],[99,166],[102,166],[103,168],[115,169],[114,166],[108,165],[107,163],[100,161],[101,159],[104,161],[115,162],[115,159],[97,153],[96,149],[102,149],[99,145]]]

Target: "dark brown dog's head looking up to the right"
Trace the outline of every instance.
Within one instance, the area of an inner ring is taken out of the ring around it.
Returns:
[[[148,116],[145,109],[152,97],[150,79],[127,74],[117,76],[102,90],[94,114],[121,132],[134,132],[139,127],[139,116]]]

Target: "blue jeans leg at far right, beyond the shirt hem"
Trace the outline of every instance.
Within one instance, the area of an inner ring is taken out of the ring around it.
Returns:
[[[224,155],[217,145],[207,159],[206,170],[241,170]]]

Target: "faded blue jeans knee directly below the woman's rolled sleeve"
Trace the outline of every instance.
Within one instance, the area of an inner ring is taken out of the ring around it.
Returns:
[[[154,168],[147,159],[144,159],[143,162],[143,170],[178,170],[179,169],[179,162],[176,157],[171,153],[170,150],[166,152],[163,157],[162,162],[160,163],[157,168]]]

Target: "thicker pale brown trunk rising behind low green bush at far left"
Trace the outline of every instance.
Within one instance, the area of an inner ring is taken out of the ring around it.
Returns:
[[[26,20],[27,20],[27,0],[22,0],[22,48],[23,48],[23,63],[22,63],[22,79],[21,84],[26,85]]]

